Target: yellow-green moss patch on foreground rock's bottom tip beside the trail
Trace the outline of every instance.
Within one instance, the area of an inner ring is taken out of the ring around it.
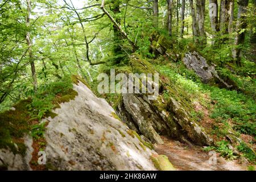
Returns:
[[[174,166],[165,155],[151,155],[150,159],[154,163],[154,166],[159,171],[175,171]]]

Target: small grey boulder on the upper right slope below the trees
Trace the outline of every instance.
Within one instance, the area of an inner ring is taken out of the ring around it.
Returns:
[[[225,88],[232,87],[232,85],[229,85],[218,76],[214,66],[208,65],[207,61],[204,59],[204,57],[199,55],[199,53],[195,51],[193,53],[186,53],[185,57],[183,58],[183,62],[188,69],[193,69],[205,84],[215,80],[218,84],[224,86]]]

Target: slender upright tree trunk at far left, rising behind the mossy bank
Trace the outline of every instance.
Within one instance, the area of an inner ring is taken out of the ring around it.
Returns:
[[[30,0],[27,0],[27,19],[26,19],[27,27],[30,26],[30,14],[31,14],[31,2],[30,2]],[[28,54],[30,56],[30,66],[31,66],[31,72],[32,72],[33,86],[34,86],[34,91],[36,92],[36,90],[38,88],[38,81],[36,78],[34,55],[33,55],[33,51],[32,51],[32,42],[31,42],[29,31],[26,34],[26,41],[27,41],[27,46],[28,46]]]

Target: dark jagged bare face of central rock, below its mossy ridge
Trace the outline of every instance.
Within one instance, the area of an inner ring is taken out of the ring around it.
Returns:
[[[160,96],[159,96],[160,97]],[[122,94],[117,112],[127,125],[151,142],[162,144],[160,135],[167,135],[191,144],[210,145],[213,140],[205,133],[180,103],[170,98],[170,110],[156,107],[162,100],[149,101],[142,94]]]

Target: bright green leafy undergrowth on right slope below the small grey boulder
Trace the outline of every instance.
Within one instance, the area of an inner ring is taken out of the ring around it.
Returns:
[[[183,68],[183,65],[156,65],[160,73],[166,75],[174,85],[180,87],[188,94],[192,101],[198,101],[209,107],[213,102],[211,117],[218,121],[232,119],[233,129],[240,133],[255,135],[255,100],[236,90],[220,89],[216,86],[202,84],[196,75]],[[210,101],[205,99],[205,94]],[[164,93],[164,97],[168,97]]]

